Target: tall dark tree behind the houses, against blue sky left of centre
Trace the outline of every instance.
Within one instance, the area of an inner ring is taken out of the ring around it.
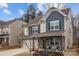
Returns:
[[[31,5],[29,5],[27,12],[22,16],[22,19],[25,20],[26,22],[30,21],[35,18],[35,8]]]

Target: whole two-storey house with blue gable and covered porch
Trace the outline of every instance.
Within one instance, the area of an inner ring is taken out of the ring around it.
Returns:
[[[68,49],[73,46],[71,9],[50,8],[39,19],[31,19],[24,29],[23,47],[32,49]]]

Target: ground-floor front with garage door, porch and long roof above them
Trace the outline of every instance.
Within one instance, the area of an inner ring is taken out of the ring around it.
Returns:
[[[64,50],[65,48],[65,37],[63,32],[41,33],[24,37],[24,39],[23,46],[29,47],[32,50]]]

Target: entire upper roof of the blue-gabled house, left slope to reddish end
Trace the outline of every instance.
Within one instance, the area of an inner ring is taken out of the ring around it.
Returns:
[[[62,15],[66,16],[69,14],[69,11],[70,11],[70,8],[64,8],[64,9],[57,9],[55,7],[52,7],[50,9],[47,10],[46,14],[45,15],[42,15],[42,16],[39,16],[39,17],[36,17],[34,19],[31,20],[30,23],[28,23],[28,25],[37,25],[41,22],[45,22],[44,19],[47,18],[47,16],[51,13],[51,12],[54,12],[54,11],[58,11],[59,13],[61,13]]]

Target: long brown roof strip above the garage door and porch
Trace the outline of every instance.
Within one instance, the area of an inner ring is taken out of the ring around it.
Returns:
[[[64,32],[62,31],[55,31],[55,32],[45,32],[40,34],[35,34],[31,36],[24,36],[24,39],[32,39],[33,37],[51,37],[51,36],[64,36]]]

